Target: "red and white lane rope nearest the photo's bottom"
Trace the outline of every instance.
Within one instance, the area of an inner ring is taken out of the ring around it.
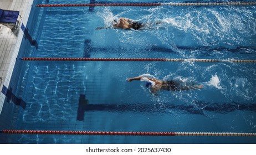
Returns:
[[[256,133],[237,132],[113,132],[113,131],[54,131],[54,130],[2,130],[6,134],[45,134],[45,135],[101,135],[101,136],[226,136],[256,137]]]

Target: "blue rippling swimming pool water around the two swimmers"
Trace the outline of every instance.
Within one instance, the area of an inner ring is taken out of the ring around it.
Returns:
[[[119,17],[151,28],[95,30]],[[88,7],[33,7],[26,28],[36,44],[24,38],[18,57],[255,59],[255,25],[255,6],[95,7],[92,12]],[[9,87],[25,106],[9,110],[13,118],[8,128],[255,133],[255,69],[253,63],[17,60]],[[142,74],[204,87],[154,96],[144,82],[126,81]],[[84,107],[85,99],[89,103]],[[255,143],[256,139],[8,135],[6,142]]]

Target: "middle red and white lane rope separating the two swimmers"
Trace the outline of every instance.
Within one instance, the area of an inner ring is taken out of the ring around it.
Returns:
[[[168,61],[168,62],[196,62],[196,63],[256,63],[256,60],[235,59],[166,59],[166,58],[19,58],[23,61]]]

